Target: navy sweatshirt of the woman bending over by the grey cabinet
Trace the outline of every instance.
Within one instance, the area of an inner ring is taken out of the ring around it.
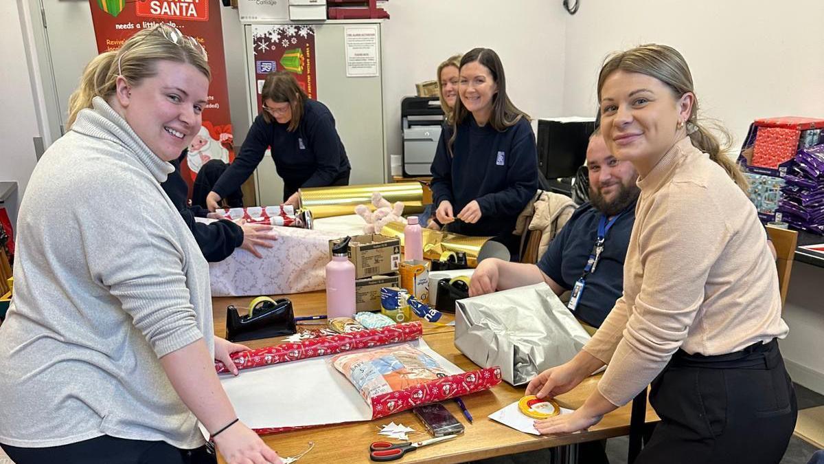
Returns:
[[[213,191],[221,197],[235,192],[255,171],[269,147],[285,191],[329,186],[350,170],[344,144],[335,130],[335,117],[323,103],[307,99],[297,130],[289,132],[287,127],[288,124],[269,123],[262,115],[257,116],[241,153],[215,183]]]

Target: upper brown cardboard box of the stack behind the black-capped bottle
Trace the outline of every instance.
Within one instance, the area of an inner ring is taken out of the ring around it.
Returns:
[[[329,241],[329,257],[332,246]],[[355,265],[355,278],[391,274],[400,265],[400,240],[379,234],[355,235],[349,242],[349,261]]]

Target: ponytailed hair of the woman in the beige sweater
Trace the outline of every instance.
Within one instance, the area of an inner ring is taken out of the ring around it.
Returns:
[[[695,96],[695,86],[692,83],[692,74],[686,64],[684,57],[678,50],[658,44],[646,44],[613,54],[606,59],[598,75],[598,101],[601,101],[601,90],[606,78],[616,71],[627,73],[645,74],[651,78],[656,78],[667,87],[672,89],[676,98],[680,98],[687,92]],[[732,137],[729,132],[717,122],[711,123],[714,130],[723,136],[723,144],[719,141],[705,124],[698,118],[698,97],[695,97],[692,104],[692,111],[686,120],[686,132],[692,140],[695,148],[709,154],[709,159],[718,163],[735,181],[738,187],[747,192],[747,178],[741,172],[732,159],[729,159],[727,152],[730,149]]]

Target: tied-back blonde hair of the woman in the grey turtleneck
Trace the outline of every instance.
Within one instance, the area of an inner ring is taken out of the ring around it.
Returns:
[[[138,85],[144,78],[157,74],[156,64],[162,60],[191,64],[209,80],[212,78],[206,52],[197,40],[183,36],[172,26],[157,24],[129,37],[119,50],[91,59],[83,70],[80,85],[68,99],[68,129],[77,120],[77,113],[91,108],[94,97],[108,100],[115,94],[119,76],[130,85]]]

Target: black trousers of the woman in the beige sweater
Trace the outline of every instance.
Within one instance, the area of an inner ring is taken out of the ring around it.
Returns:
[[[778,463],[798,417],[775,340],[719,356],[679,350],[649,401],[661,423],[635,464]]]

